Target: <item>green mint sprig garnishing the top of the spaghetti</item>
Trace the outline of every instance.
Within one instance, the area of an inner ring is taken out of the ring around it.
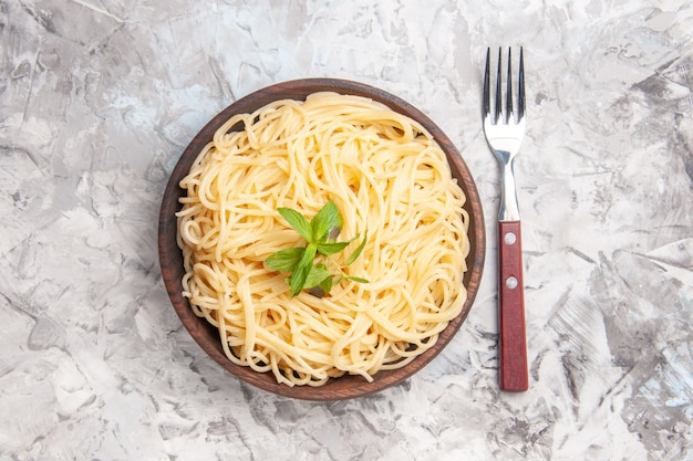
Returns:
[[[346,241],[337,241],[337,237],[342,230],[343,219],[333,201],[325,203],[310,221],[291,208],[278,208],[277,211],[307,243],[306,247],[279,250],[265,261],[268,269],[291,273],[287,277],[287,283],[291,289],[292,297],[302,290],[308,290],[309,293],[322,297],[342,280],[369,283],[366,279],[344,273],[344,268],[351,265],[363,252],[368,232],[363,235],[359,247],[346,258],[343,265],[339,265],[330,258],[343,251],[359,238],[356,235]],[[337,273],[333,273],[330,266],[334,268]]]

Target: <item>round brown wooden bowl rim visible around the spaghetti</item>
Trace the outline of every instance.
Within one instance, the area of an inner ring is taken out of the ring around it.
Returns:
[[[330,379],[321,387],[289,387],[278,384],[271,373],[257,373],[249,367],[231,363],[224,355],[217,328],[205,318],[197,317],[190,310],[188,300],[182,295],[180,280],[184,275],[184,268],[183,254],[176,244],[177,227],[175,213],[180,209],[178,198],[183,196],[184,190],[179,188],[178,184],[188,174],[193,161],[201,148],[211,139],[214,132],[228,121],[231,115],[251,113],[276,99],[291,98],[302,101],[309,94],[324,91],[365,96],[379,101],[393,111],[407,115],[421,123],[441,145],[449,161],[453,176],[457,178],[466,195],[467,202],[465,208],[470,217],[469,241],[472,248],[467,256],[468,271],[464,275],[464,283],[467,287],[467,301],[462,313],[441,333],[435,346],[424,352],[403,368],[379,371],[373,376],[373,383],[368,383],[360,376],[345,375]],[[484,214],[476,185],[462,156],[451,139],[422,112],[397,96],[365,84],[334,78],[306,78],[279,83],[238,99],[215,116],[195,136],[174,168],[164,191],[158,224],[158,251],[162,276],[176,313],[190,336],[215,362],[244,381],[270,392],[307,400],[338,400],[365,396],[407,379],[428,364],[452,339],[472,308],[482,279],[485,252]]]

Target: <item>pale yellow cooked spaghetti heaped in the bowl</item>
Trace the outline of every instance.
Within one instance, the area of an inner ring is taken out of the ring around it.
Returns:
[[[238,365],[289,386],[371,381],[432,347],[462,311],[465,196],[431,135],[380,103],[316,93],[234,115],[180,187],[184,295]],[[344,218],[340,240],[368,231],[345,272],[370,283],[291,297],[287,274],[263,264],[304,245],[277,209],[310,219],[330,200]]]

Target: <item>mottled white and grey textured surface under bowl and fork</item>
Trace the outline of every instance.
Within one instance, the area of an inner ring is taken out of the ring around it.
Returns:
[[[494,4],[495,3],[495,4]],[[692,460],[687,0],[0,0],[0,460]],[[498,391],[487,45],[526,52],[530,390]],[[216,112],[338,76],[458,145],[480,294],[404,385],[268,395],[182,328],[156,247],[167,175]]]

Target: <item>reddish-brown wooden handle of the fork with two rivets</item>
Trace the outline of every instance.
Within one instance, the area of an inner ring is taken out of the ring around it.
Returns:
[[[520,221],[498,222],[498,327],[500,389],[529,388]]]

